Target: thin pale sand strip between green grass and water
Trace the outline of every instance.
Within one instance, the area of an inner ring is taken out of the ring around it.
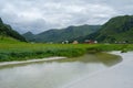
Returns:
[[[29,59],[29,61],[20,61],[20,62],[3,62],[0,63],[0,66],[7,65],[17,65],[17,64],[27,64],[27,63],[35,63],[35,62],[44,62],[44,61],[52,61],[52,59],[64,59],[66,57],[48,57],[48,58],[38,58],[38,59]]]

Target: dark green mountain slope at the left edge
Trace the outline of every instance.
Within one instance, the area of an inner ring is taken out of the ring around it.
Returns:
[[[20,35],[18,32],[12,30],[10,25],[4,24],[0,18],[0,37],[3,38],[6,36],[25,42],[25,38],[22,35]]]

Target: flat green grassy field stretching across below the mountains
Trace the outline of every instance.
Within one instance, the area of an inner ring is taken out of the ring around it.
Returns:
[[[0,62],[27,61],[50,56],[76,57],[85,53],[133,51],[132,44],[30,44],[4,38],[0,41]]]

